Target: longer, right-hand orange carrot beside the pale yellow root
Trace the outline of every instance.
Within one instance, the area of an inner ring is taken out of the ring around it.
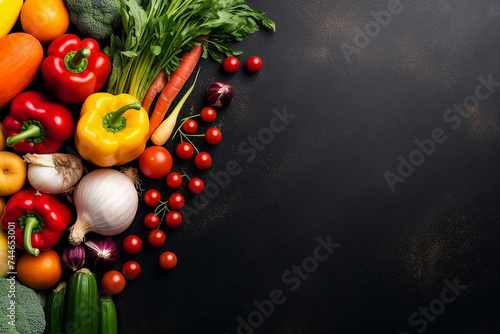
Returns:
[[[199,39],[207,39],[206,36],[198,37]],[[185,52],[181,57],[179,67],[172,73],[167,84],[161,91],[155,108],[149,119],[149,133],[151,136],[156,128],[160,125],[165,114],[167,113],[170,104],[175,99],[179,91],[184,86],[191,73],[193,73],[198,60],[203,53],[203,45],[195,45],[189,52]]]

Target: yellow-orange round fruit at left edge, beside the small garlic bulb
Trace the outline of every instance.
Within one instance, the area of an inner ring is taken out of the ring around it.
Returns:
[[[0,152],[0,196],[13,195],[23,188],[26,169],[26,163],[17,154]]]

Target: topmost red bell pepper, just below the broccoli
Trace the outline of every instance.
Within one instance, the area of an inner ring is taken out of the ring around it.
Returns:
[[[92,38],[80,40],[73,34],[57,37],[42,63],[47,91],[65,104],[83,102],[104,87],[111,62]]]

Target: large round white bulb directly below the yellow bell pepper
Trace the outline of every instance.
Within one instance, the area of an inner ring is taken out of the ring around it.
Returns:
[[[139,203],[137,171],[96,169],[85,175],[75,188],[77,220],[70,228],[69,242],[79,245],[85,234],[112,236],[125,231],[134,220]]]

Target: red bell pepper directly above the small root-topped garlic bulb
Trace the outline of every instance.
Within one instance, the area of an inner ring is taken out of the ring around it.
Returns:
[[[53,153],[73,134],[73,116],[60,103],[39,92],[12,100],[3,121],[7,145],[20,153]]]

